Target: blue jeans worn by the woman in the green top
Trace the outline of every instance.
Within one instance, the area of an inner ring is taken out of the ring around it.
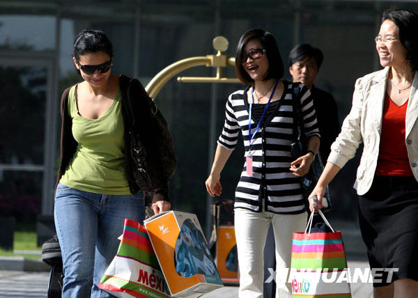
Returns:
[[[143,194],[94,194],[59,184],[54,219],[63,255],[62,297],[113,297],[98,284],[118,251],[124,219],[142,224],[144,217]]]

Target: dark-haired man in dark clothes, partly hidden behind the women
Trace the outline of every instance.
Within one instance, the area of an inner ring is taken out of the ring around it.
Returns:
[[[317,113],[320,132],[320,155],[323,164],[327,163],[331,144],[339,134],[338,111],[334,97],[314,86],[318,70],[323,62],[323,53],[320,49],[306,43],[293,47],[289,54],[289,72],[293,81],[300,81],[311,91]]]

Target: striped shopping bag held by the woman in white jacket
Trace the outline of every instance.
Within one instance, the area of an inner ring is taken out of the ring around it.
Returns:
[[[350,272],[341,232],[310,233],[314,212],[304,233],[293,233],[290,280],[294,298],[351,297]],[[308,230],[309,228],[309,230]]]

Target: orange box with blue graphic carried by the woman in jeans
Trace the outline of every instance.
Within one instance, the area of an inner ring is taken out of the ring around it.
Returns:
[[[222,287],[195,214],[164,212],[147,219],[145,226],[173,297]]]

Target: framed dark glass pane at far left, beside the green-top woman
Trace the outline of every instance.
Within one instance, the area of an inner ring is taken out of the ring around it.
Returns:
[[[12,127],[0,132],[2,164],[43,164],[46,75],[45,68],[0,67],[0,125]]]

